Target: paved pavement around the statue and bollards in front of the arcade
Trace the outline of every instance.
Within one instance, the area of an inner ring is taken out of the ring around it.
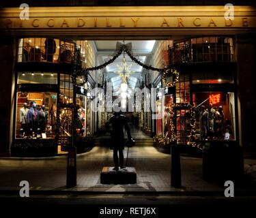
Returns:
[[[126,157],[127,149],[124,150]],[[245,159],[253,165],[256,160]],[[182,189],[171,187],[171,155],[159,153],[152,146],[132,147],[128,166],[137,170],[135,185],[102,185],[103,166],[113,166],[112,151],[96,146],[77,155],[77,186],[66,189],[67,157],[0,158],[0,190],[19,189],[20,181],[29,181],[35,190],[78,191],[223,191],[224,186],[202,179],[202,159],[181,157]],[[246,191],[248,187],[240,187]],[[254,188],[256,190],[256,187]]]

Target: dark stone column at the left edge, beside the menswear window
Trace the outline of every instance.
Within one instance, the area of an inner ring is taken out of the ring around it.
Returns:
[[[2,37],[0,40],[0,153],[10,153],[12,128],[14,121],[14,87],[16,61],[14,37]]]

